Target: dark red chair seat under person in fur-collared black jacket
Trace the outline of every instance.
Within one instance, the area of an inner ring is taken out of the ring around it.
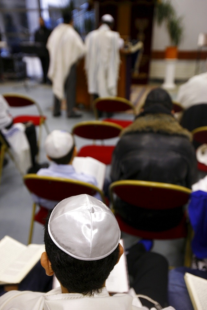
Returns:
[[[185,216],[183,216],[183,219],[178,224],[178,226],[161,232],[150,232],[133,228],[132,226],[126,224],[120,215],[116,215],[116,219],[122,231],[129,233],[130,235],[142,237],[144,239],[172,239],[172,236],[173,238],[182,238],[187,236],[187,224]]]

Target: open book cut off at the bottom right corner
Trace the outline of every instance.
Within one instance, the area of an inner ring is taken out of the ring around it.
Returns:
[[[194,310],[207,309],[207,280],[186,272],[185,284]]]

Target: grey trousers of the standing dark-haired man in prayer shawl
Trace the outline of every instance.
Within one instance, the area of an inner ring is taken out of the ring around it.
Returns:
[[[73,64],[65,80],[64,90],[66,96],[67,114],[70,115],[76,105],[76,64]],[[54,96],[53,115],[60,113],[61,100]]]

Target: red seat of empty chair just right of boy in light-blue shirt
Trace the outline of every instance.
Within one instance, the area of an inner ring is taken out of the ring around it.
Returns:
[[[90,156],[106,165],[109,165],[112,160],[114,148],[114,145],[86,145],[80,149],[77,156]]]

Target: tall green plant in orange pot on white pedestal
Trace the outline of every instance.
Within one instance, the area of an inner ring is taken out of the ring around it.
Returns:
[[[169,34],[171,46],[166,47],[165,58],[177,58],[177,47],[183,38],[183,18],[177,17],[176,11],[170,0],[157,2],[155,18],[158,25],[165,23]]]

